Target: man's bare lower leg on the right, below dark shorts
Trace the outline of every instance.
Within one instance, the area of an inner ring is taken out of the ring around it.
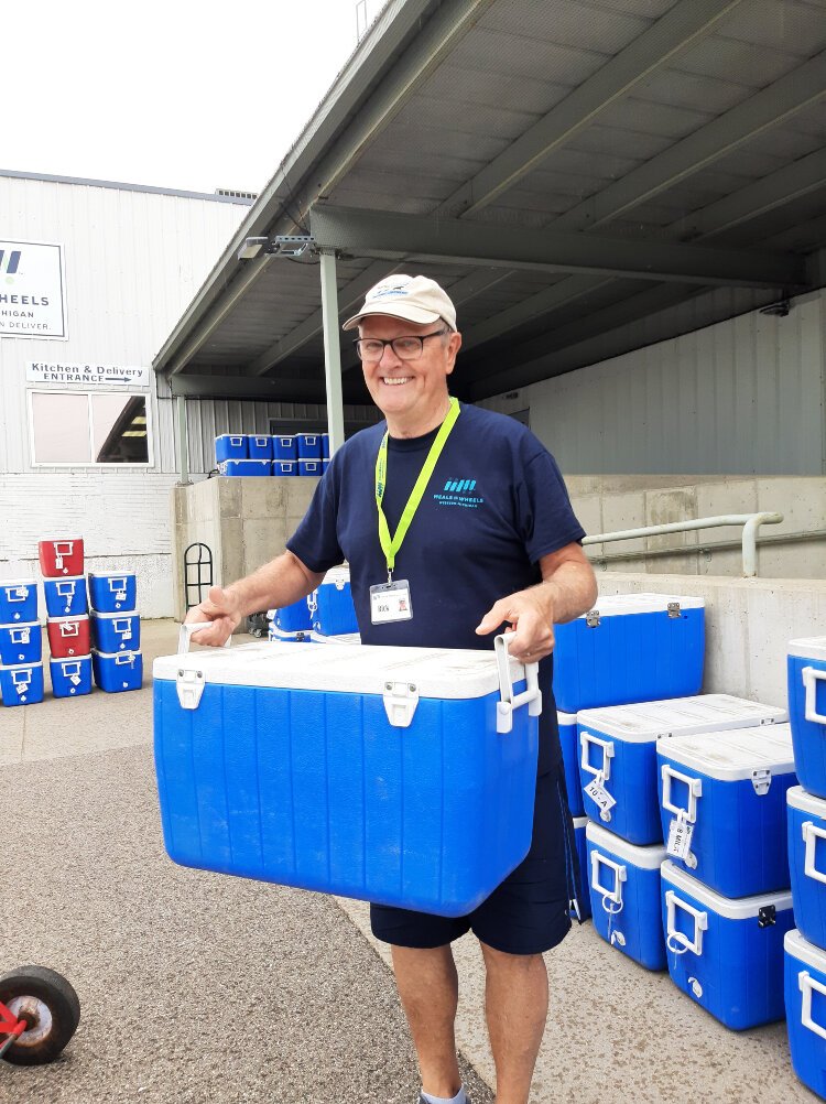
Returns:
[[[548,1016],[548,974],[541,955],[508,955],[480,943],[485,1013],[496,1065],[496,1104],[527,1104]]]

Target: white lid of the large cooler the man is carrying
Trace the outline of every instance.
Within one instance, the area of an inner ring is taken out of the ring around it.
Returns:
[[[268,640],[161,656],[152,668],[155,679],[170,681],[181,670],[202,671],[207,683],[344,693],[384,694],[386,682],[407,682],[416,686],[420,698],[453,700],[483,698],[498,691],[500,684],[493,650],[367,644],[297,648]],[[511,677],[524,678],[516,660],[511,661]]]

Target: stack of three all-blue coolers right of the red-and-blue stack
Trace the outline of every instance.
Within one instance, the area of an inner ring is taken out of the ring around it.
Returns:
[[[92,669],[96,686],[107,693],[140,690],[143,682],[140,615],[136,604],[137,581],[132,572],[89,574]]]

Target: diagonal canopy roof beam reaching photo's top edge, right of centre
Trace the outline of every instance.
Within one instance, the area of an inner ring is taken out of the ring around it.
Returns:
[[[455,216],[471,214],[513,188],[549,153],[593,126],[618,99],[627,96],[652,73],[711,33],[742,0],[694,0],[677,3],[599,72],[575,88],[548,114],[521,135],[472,180],[438,209]]]

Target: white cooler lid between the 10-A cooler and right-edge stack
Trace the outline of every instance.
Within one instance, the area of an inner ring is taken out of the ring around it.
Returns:
[[[794,773],[791,724],[666,737],[657,740],[657,752],[721,782],[751,778],[753,771]]]

